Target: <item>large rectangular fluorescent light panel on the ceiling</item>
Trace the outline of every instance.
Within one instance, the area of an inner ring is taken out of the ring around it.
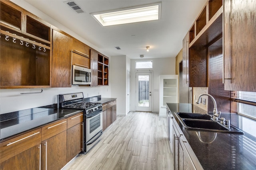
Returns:
[[[102,26],[160,20],[161,3],[91,14]]]

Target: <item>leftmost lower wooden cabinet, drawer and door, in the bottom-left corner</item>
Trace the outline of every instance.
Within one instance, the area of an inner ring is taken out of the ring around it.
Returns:
[[[41,128],[0,143],[1,170],[38,170]]]

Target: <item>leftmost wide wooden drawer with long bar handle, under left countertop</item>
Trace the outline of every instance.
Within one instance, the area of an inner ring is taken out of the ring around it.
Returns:
[[[0,163],[41,143],[41,128],[0,143]]]

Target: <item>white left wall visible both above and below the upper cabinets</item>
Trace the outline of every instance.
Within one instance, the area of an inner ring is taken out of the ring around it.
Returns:
[[[80,41],[86,43],[90,47],[94,48],[95,50],[103,53],[95,47],[90,42],[82,39],[72,30],[64,27],[61,23],[53,20],[46,14],[42,13],[40,10],[34,8],[24,0],[12,0],[18,6],[21,6],[25,10],[35,14],[39,18],[51,23],[52,25],[58,27],[59,29],[65,31],[66,33],[70,34],[71,36],[79,39]],[[106,56],[109,56],[106,53],[103,53]],[[111,57],[110,57],[111,60]],[[109,79],[111,79],[111,70],[109,74]],[[71,88],[44,88],[44,92],[40,94],[20,94],[24,92],[38,92],[41,89],[2,89],[0,90],[0,114],[8,113],[12,111],[18,111],[22,109],[29,109],[33,107],[40,107],[46,106],[50,104],[56,103],[56,95],[58,94],[66,94],[72,92],[83,92],[84,97],[91,97],[91,96],[98,96],[102,95],[102,97],[111,97],[111,82],[109,82],[109,86],[99,86],[99,87],[79,87],[79,86],[72,86]]]

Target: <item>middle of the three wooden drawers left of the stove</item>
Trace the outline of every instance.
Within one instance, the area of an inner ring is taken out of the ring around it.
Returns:
[[[67,119],[62,119],[42,127],[42,141],[67,130]]]

